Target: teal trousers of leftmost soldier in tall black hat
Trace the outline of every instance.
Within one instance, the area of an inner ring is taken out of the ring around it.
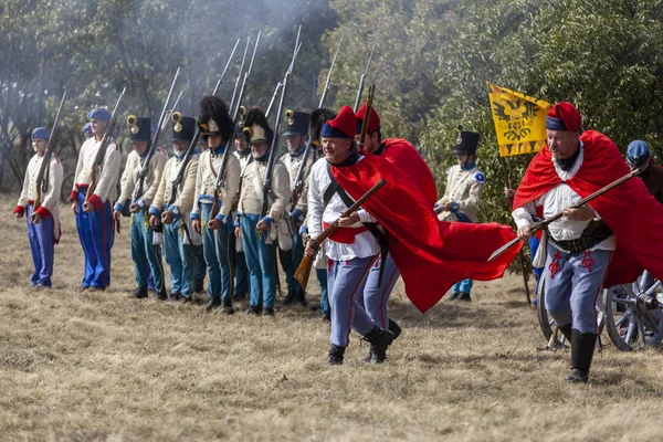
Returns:
[[[152,243],[154,231],[149,224],[147,211],[148,209],[145,208],[131,214],[131,260],[136,273],[136,285],[147,287],[151,273],[155,290],[161,292],[166,288],[161,246]]]

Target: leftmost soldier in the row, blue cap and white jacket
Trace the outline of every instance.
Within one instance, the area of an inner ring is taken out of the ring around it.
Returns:
[[[34,157],[30,159],[23,180],[23,190],[14,209],[14,215],[23,218],[28,212],[28,239],[34,273],[30,275],[33,287],[50,287],[53,275],[53,245],[60,241],[60,211],[57,209],[62,188],[62,165],[55,154],[44,169],[42,179],[38,177],[51,134],[43,127],[32,131]],[[45,187],[44,187],[45,183]]]

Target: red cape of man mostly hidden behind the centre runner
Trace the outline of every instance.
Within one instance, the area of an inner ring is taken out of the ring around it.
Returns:
[[[382,140],[382,144],[385,150],[380,157],[408,173],[408,177],[419,186],[423,196],[430,201],[431,207],[435,204],[438,201],[435,179],[414,146],[404,138],[387,138]]]

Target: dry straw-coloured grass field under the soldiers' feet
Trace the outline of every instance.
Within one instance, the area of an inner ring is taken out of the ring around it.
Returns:
[[[515,275],[425,315],[399,283],[391,314],[403,334],[388,361],[362,364],[368,345],[354,335],[346,364],[329,367],[328,326],[313,313],[127,299],[127,225],[112,290],[77,293],[83,254],[66,207],[54,288],[31,291],[14,197],[0,199],[2,441],[661,440],[663,355],[619,352],[604,334],[590,383],[564,381],[569,354],[540,349]]]

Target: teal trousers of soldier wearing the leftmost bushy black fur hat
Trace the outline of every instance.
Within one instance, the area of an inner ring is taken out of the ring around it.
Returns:
[[[212,204],[201,203],[202,251],[210,275],[208,295],[211,299],[230,299],[234,288],[234,267],[230,254],[234,250],[232,220],[221,223],[217,230],[208,229],[211,212]]]

